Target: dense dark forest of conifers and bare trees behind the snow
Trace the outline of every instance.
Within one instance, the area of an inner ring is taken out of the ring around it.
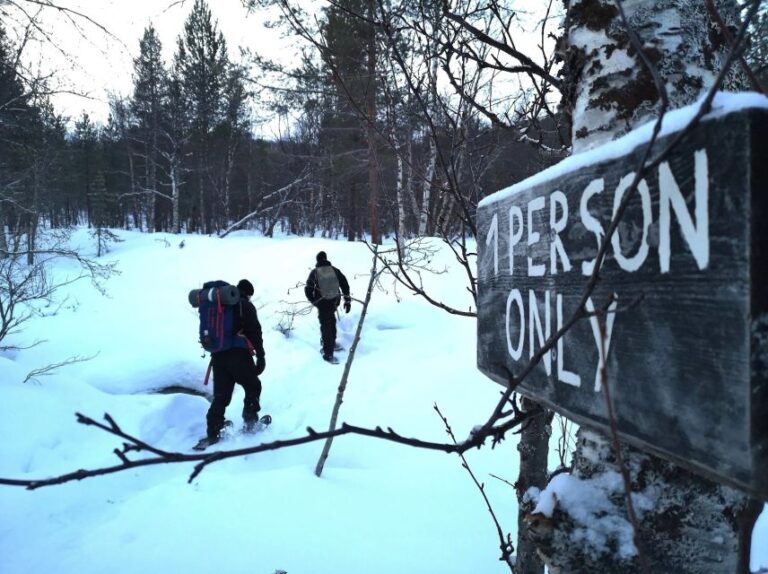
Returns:
[[[111,99],[104,125],[85,113],[57,114],[0,26],[0,221],[9,237],[34,245],[40,225],[205,234],[248,227],[267,235],[277,228],[376,241],[471,235],[479,199],[562,157],[554,128],[544,133],[551,148],[536,145],[523,112],[494,124],[469,98],[438,88],[446,38],[415,26],[374,29],[353,15],[368,3],[344,4],[321,12],[321,40],[289,70],[233,58],[209,7],[196,0],[172,62],[146,27],[133,91]],[[416,22],[420,10],[402,8],[397,18]],[[258,80],[267,75],[282,86],[268,95]],[[463,86],[473,81],[465,77]],[[260,106],[290,118],[286,135],[253,135]]]

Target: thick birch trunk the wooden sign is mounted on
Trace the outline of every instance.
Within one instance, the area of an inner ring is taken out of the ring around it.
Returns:
[[[671,108],[693,103],[713,85],[729,46],[710,23],[703,1],[627,0],[622,6],[646,55],[666,83]],[[738,16],[735,1],[719,0],[717,7],[733,27]],[[656,117],[660,99],[653,77],[632,47],[613,1],[572,1],[566,34],[567,85],[571,89],[565,93],[572,112],[574,153],[610,141]],[[732,34],[735,36],[733,29]],[[739,87],[738,71],[729,74],[723,87]],[[577,437],[572,475],[583,481],[580,485],[588,487],[617,476],[621,463],[608,437],[586,427],[581,427]],[[588,532],[595,524],[584,523],[566,508],[556,508],[552,523],[537,533],[539,551],[550,571],[739,571],[739,522],[750,508],[746,496],[634,448],[623,446],[621,458],[630,471],[633,497],[642,494],[653,499],[652,508],[643,508],[638,517],[639,546],[635,550],[639,554],[626,552],[626,540],[621,552],[621,528],[603,533],[607,540],[603,548],[590,545],[586,539],[574,544],[574,535]],[[606,508],[612,507],[606,514],[626,516],[622,487],[606,503]],[[622,524],[627,526],[628,522]],[[743,563],[742,557],[741,568]]]

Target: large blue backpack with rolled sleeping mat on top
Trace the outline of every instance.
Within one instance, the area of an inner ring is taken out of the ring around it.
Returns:
[[[248,348],[243,337],[235,333],[236,313],[240,307],[240,291],[226,281],[208,281],[202,289],[189,292],[189,302],[200,315],[200,344],[209,353],[233,347]]]

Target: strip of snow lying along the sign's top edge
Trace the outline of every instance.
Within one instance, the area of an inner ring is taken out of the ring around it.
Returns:
[[[690,106],[667,112],[664,116],[661,133],[659,135],[669,135],[685,128],[688,122],[690,122],[699,111],[699,107],[701,106],[704,97],[705,96],[702,96],[698,102],[691,104]],[[738,110],[750,108],[768,109],[768,97],[753,92],[718,92],[712,102],[712,111],[704,116],[704,120],[712,120]],[[540,171],[536,175],[489,195],[484,198],[478,206],[482,207],[497,201],[503,201],[522,190],[546,183],[547,181],[572,173],[583,167],[626,155],[637,146],[642,145],[650,139],[655,122],[655,119],[651,120],[619,139],[607,142],[599,147],[585,151],[584,153],[567,157],[560,163],[555,164],[544,171]]]

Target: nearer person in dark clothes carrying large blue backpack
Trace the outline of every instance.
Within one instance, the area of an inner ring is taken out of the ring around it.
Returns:
[[[266,361],[261,324],[250,301],[253,293],[253,285],[247,279],[242,279],[236,289],[224,281],[215,281],[190,293],[190,302],[200,311],[200,343],[211,353],[213,369],[213,401],[206,416],[207,436],[201,440],[207,442],[198,444],[201,449],[220,440],[224,412],[232,400],[235,383],[245,391],[244,430],[253,431],[259,422],[259,375],[264,372]],[[197,301],[193,300],[195,297]]]

